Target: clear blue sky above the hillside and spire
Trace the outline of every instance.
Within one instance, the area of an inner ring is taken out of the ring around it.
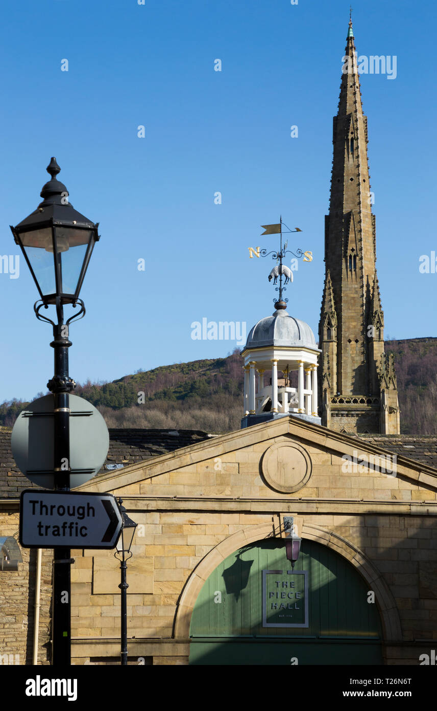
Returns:
[[[322,0],[4,7],[0,254],[18,254],[9,224],[40,202],[51,156],[74,208],[100,223],[81,293],[87,315],[70,329],[75,380],[231,352],[235,342],[193,340],[191,324],[249,329],[272,313],[272,264],[249,260],[248,247],[276,246],[260,238],[260,225],[280,213],[302,229],[294,244],[314,253],[294,273],[288,311],[317,332],[348,8]],[[428,0],[353,3],[358,55],[397,57],[396,79],[360,77],[386,338],[437,335],[437,274],[419,272],[419,257],[437,252],[426,34],[436,14]],[[0,274],[0,401],[32,399],[52,376],[51,329],[33,315],[38,294],[23,259],[20,269],[17,279]]]

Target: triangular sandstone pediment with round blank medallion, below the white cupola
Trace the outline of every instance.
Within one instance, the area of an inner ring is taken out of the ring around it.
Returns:
[[[426,493],[419,496],[421,490]],[[340,499],[419,503],[436,501],[437,470],[289,416],[101,474],[77,491],[197,501],[298,499],[311,506]]]

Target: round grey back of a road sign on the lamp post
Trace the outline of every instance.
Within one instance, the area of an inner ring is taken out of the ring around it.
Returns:
[[[77,395],[70,399],[70,487],[92,479],[108,454],[109,432],[99,410]],[[13,425],[11,448],[18,469],[44,488],[55,488],[54,397],[33,400]]]

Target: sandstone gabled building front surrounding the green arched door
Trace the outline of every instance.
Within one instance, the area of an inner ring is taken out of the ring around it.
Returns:
[[[128,562],[131,663],[221,663],[223,654],[232,656],[235,639],[196,634],[193,614],[202,590],[220,565],[224,573],[231,570],[226,560],[236,552],[244,550],[251,560],[266,542],[282,547],[283,517],[293,515],[303,542],[341,557],[348,574],[358,572],[363,580],[363,594],[374,593],[380,663],[419,664],[437,642],[437,470],[381,444],[290,416],[101,474],[82,486],[122,496],[138,522]],[[112,552],[73,555],[74,663],[116,663],[118,562]],[[221,604],[231,609],[235,591],[226,591]],[[348,632],[341,626],[330,632],[348,655],[356,637],[344,639]],[[276,633],[268,630],[270,641]],[[292,633],[275,640],[284,660],[304,655],[304,632]],[[246,634],[243,640],[255,658],[260,637]],[[323,653],[324,643],[323,635],[312,640],[311,653]],[[205,661],[202,650],[214,644],[215,661]],[[360,652],[358,660],[363,663]]]

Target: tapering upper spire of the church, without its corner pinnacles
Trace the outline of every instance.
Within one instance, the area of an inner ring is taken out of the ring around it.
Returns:
[[[377,387],[376,381],[369,383],[365,340],[375,277],[375,218],[367,164],[367,117],[361,103],[353,33],[348,33],[342,61],[338,112],[333,117],[325,262],[338,319],[338,390],[344,395],[366,395]]]

